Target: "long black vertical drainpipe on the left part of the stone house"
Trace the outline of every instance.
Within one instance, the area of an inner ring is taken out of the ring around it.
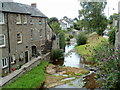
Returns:
[[[8,68],[9,68],[9,73],[11,72],[11,65],[10,65],[10,53],[11,53],[11,50],[10,50],[10,34],[9,34],[9,20],[8,20],[8,13],[7,13],[7,36],[8,36],[8,56],[9,56],[9,61],[8,61]]]

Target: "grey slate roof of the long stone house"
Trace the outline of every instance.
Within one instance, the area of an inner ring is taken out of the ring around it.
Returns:
[[[11,13],[31,14],[31,16],[36,16],[36,17],[46,17],[37,8],[32,7],[30,5],[26,5],[26,4],[16,3],[16,2],[3,2],[2,11],[11,12]]]

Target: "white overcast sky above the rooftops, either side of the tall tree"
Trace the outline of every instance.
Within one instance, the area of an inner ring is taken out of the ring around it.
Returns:
[[[57,17],[61,19],[64,16],[74,19],[78,17],[78,10],[80,5],[78,0],[13,0],[23,4],[30,5],[31,3],[37,3],[37,8],[42,11],[46,16]],[[108,5],[105,9],[105,14],[109,15],[118,12],[118,1],[120,0],[107,0]],[[113,10],[114,8],[114,10]]]

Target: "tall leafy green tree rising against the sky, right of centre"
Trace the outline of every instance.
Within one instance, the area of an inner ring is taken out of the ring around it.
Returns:
[[[103,14],[106,6],[106,2],[81,2],[82,10],[80,15],[83,17],[84,27],[87,28],[88,32],[101,31],[99,35],[107,27],[107,18]]]

